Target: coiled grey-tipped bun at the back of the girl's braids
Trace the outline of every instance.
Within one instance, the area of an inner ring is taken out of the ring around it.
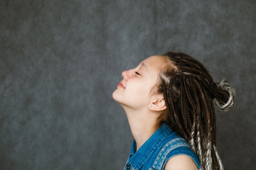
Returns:
[[[225,79],[217,83],[217,93],[213,101],[224,111],[230,110],[235,105],[235,90]]]

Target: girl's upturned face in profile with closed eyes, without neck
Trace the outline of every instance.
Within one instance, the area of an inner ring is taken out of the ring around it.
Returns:
[[[159,70],[165,61],[166,56],[155,55],[142,61],[136,68],[123,71],[124,79],[117,85],[112,97],[122,106],[148,108],[152,94],[157,90]]]

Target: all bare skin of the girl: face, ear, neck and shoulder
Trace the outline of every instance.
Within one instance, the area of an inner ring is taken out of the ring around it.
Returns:
[[[173,65],[166,56],[148,57],[136,68],[123,71],[124,79],[112,94],[126,112],[137,150],[161,126],[160,122],[167,113],[164,96],[156,93],[159,71],[166,64]],[[167,161],[164,170],[174,169],[198,170],[193,160],[186,155],[178,155]]]

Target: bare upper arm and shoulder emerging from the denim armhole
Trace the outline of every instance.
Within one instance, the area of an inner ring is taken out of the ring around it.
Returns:
[[[198,167],[191,157],[177,155],[166,162],[164,170],[198,170]]]

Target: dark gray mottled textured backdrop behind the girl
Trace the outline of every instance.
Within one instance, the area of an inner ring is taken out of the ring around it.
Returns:
[[[256,167],[255,0],[0,0],[0,170],[122,170],[121,71],[172,45],[237,92],[216,111],[225,170]]]

